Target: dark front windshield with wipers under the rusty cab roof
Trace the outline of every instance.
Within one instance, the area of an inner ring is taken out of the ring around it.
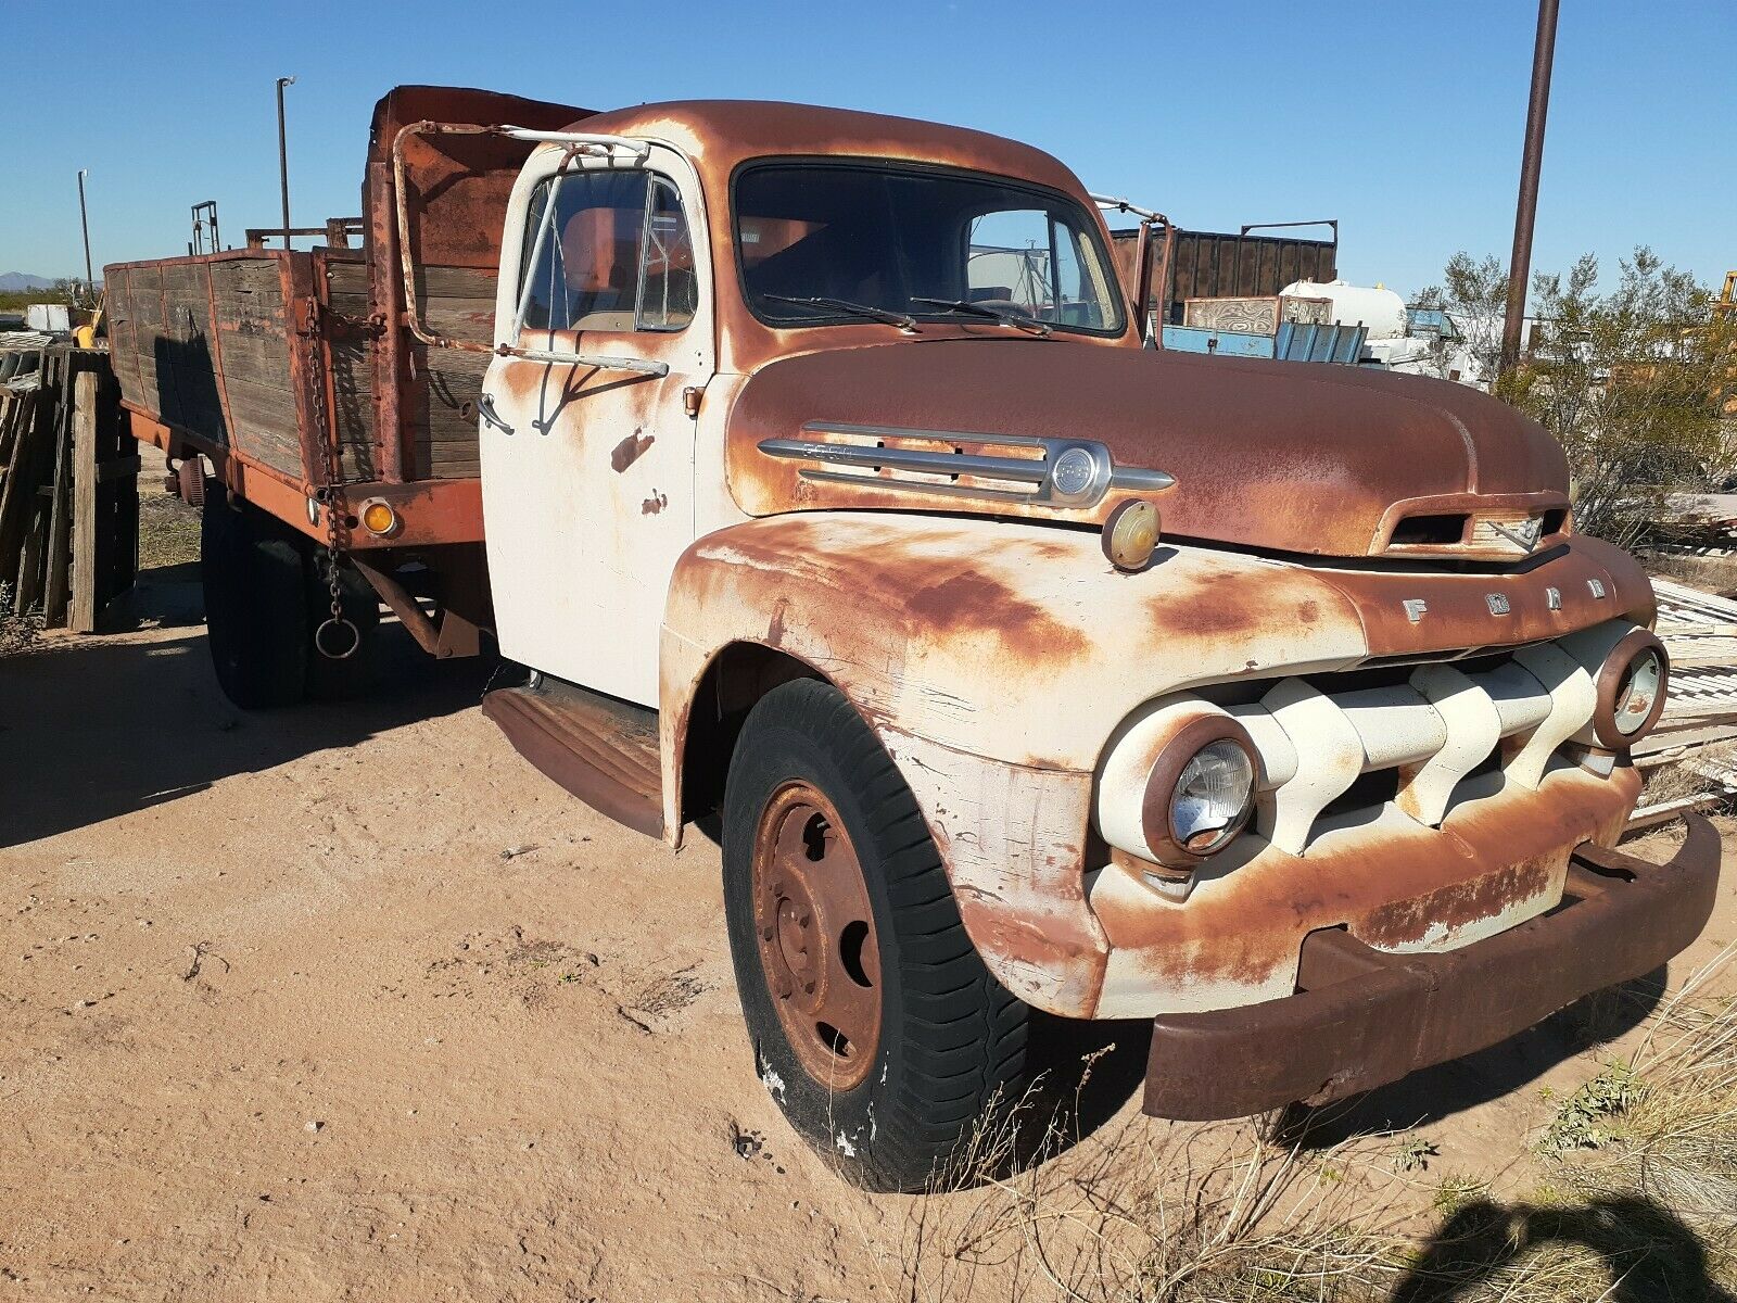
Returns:
[[[1122,332],[1096,224],[1053,191],[966,172],[804,162],[752,167],[735,196],[742,288],[768,325],[896,314]]]

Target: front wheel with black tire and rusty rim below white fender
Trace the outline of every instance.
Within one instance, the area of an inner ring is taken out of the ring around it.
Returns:
[[[1032,1084],[1034,1011],[966,936],[898,766],[813,679],[766,693],[724,794],[724,910],[761,1081],[875,1190],[962,1183]]]

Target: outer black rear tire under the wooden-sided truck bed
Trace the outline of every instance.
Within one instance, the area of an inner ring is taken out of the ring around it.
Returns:
[[[210,485],[200,518],[205,641],[217,686],[243,711],[307,695],[307,552],[247,504]]]

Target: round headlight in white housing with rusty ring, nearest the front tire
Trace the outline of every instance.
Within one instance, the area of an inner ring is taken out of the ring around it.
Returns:
[[[1098,830],[1141,860],[1193,869],[1242,832],[1258,775],[1247,730],[1181,693],[1134,716],[1112,742],[1098,775]]]

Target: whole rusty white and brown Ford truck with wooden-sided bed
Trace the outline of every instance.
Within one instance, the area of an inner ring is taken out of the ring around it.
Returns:
[[[721,841],[759,1075],[851,1178],[922,1185],[1044,1018],[1146,1022],[1146,1110],[1237,1117],[1706,921],[1706,822],[1614,848],[1668,662],[1562,450],[1456,384],[1143,347],[1053,156],[403,87],[361,200],[108,268],[219,683],[354,690],[382,605],[497,639],[532,764]]]

